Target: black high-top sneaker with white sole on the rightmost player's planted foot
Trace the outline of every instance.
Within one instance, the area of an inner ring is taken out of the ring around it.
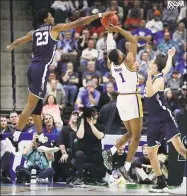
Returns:
[[[168,191],[166,180],[163,175],[158,177],[157,184],[152,186],[149,190],[151,193],[168,193]]]

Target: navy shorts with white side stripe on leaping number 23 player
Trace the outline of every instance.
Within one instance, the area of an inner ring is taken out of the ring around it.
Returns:
[[[32,63],[27,71],[29,92],[43,99],[47,90],[49,68],[41,63]]]

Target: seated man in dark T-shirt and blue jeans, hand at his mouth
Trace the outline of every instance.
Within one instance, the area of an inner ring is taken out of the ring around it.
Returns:
[[[74,72],[72,62],[67,64],[67,71],[62,75],[62,81],[66,93],[65,103],[66,105],[70,104],[73,106],[78,91],[77,85],[79,84],[79,74]]]

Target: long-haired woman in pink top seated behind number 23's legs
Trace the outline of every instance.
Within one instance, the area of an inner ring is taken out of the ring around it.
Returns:
[[[47,96],[46,102],[42,109],[42,113],[44,114],[44,116],[46,114],[51,114],[54,118],[55,123],[63,124],[60,108],[57,105],[56,98],[53,94],[49,94]]]

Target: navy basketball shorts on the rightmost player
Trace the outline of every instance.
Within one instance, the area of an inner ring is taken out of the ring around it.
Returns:
[[[180,135],[178,125],[175,120],[148,120],[147,123],[147,143],[148,147],[160,146],[163,137],[170,142],[173,137]]]

